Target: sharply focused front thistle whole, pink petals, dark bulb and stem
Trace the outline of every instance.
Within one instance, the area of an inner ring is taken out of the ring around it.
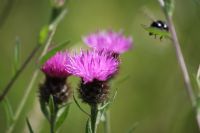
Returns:
[[[99,107],[108,98],[108,81],[117,72],[119,62],[106,52],[96,50],[74,54],[68,62],[69,72],[81,78],[79,95],[91,108],[91,131],[96,133]]]

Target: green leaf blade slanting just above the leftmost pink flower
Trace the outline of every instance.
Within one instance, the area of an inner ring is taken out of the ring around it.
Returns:
[[[62,42],[60,44],[58,44],[57,46],[55,46],[54,48],[52,48],[47,54],[45,54],[41,59],[40,59],[40,65],[44,64],[49,58],[51,58],[53,55],[56,54],[56,52],[62,50],[63,48],[65,48],[66,45],[69,44],[69,41],[65,41]]]

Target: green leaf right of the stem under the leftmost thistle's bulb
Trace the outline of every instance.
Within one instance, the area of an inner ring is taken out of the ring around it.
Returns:
[[[70,109],[69,104],[59,109],[56,119],[56,127],[55,127],[56,130],[64,123],[65,119],[69,114],[69,109]]]

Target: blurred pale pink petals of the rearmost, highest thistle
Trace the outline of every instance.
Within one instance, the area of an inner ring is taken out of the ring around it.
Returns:
[[[91,33],[83,41],[93,49],[106,50],[117,54],[124,53],[132,47],[132,38],[125,37],[122,32],[100,31]]]

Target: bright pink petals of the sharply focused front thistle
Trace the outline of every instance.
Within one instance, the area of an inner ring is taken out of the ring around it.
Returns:
[[[82,51],[68,59],[68,71],[81,77],[84,83],[108,80],[118,70],[119,65],[117,59],[104,51]]]

